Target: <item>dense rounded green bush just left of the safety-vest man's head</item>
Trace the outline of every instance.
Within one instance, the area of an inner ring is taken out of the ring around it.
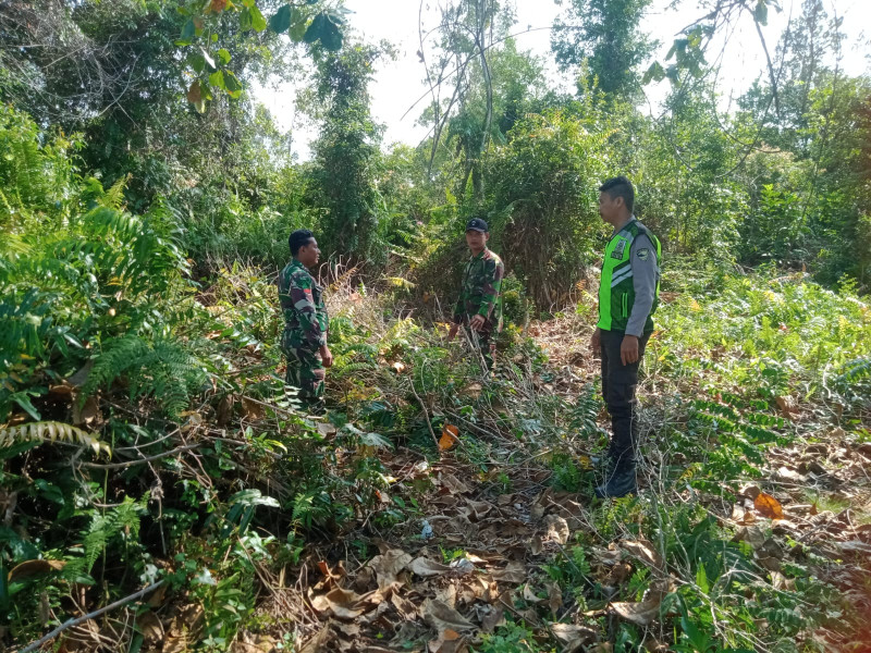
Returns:
[[[555,112],[519,121],[510,136],[487,171],[496,250],[538,307],[561,306],[599,244],[594,200],[608,134]]]

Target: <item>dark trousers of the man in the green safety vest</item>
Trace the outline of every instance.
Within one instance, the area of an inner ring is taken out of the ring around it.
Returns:
[[[612,470],[635,469],[635,452],[638,447],[638,367],[645,355],[650,334],[638,338],[638,360],[623,365],[619,346],[622,331],[602,331],[602,396],[611,415],[611,445],[608,449]]]

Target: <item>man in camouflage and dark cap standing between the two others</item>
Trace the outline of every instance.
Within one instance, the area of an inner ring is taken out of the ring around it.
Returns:
[[[471,258],[463,270],[463,285],[447,340],[454,340],[461,325],[466,326],[471,342],[480,347],[487,367],[492,368],[495,354],[492,336],[502,331],[501,291],[505,266],[499,256],[487,248],[489,238],[487,222],[480,218],[469,220],[466,244],[471,250]]]

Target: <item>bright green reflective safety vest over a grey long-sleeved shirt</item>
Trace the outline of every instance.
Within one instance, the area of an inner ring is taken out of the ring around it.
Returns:
[[[626,331],[626,323],[633,312],[635,304],[635,286],[633,285],[631,248],[633,242],[639,235],[646,235],[657,248],[657,267],[662,260],[662,246],[659,238],[637,220],[630,220],[626,226],[618,231],[605,247],[605,258],[602,261],[602,278],[599,282],[599,323],[597,326],[604,331]],[[660,282],[657,280],[657,292],[653,295],[653,306],[645,321],[645,333],[653,331],[652,315],[659,306]]]

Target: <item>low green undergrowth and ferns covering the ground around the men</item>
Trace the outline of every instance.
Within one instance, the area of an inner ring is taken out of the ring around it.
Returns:
[[[815,628],[856,620],[831,579],[836,559],[769,527],[762,545],[780,549],[760,558],[729,521],[746,485],[773,486],[775,447],[835,429],[848,444],[871,439],[871,311],[849,285],[666,278],[641,385],[645,491],[594,504],[608,439],[591,367],[549,358],[510,324],[488,374],[443,323],[409,315],[403,284],[333,270],[330,412],[314,420],[282,381],[268,271],[235,263],[194,281],[169,208],[130,214],[123,180],[107,190],[75,172],[74,141],[40,146],[33,125],[2,116],[4,138],[38,162],[3,190],[4,643],[163,580],[167,609],[198,611],[185,628],[199,650],[228,650],[258,628],[268,579],[303,574],[323,550],[364,562],[377,541],[419,542],[433,481],[400,480],[385,459],[406,451],[429,469],[449,427],[467,482],[507,494],[513,470],[535,468],[549,491],[582,497],[584,528],[533,575],[615,651],[651,638],[706,653],[814,650]],[[589,335],[590,306],[554,318],[569,347]],[[641,539],[661,565],[604,582],[602,551]],[[615,601],[654,596],[645,625],[609,616]],[[123,613],[103,637],[144,646]],[[515,620],[475,646],[555,645]]]

